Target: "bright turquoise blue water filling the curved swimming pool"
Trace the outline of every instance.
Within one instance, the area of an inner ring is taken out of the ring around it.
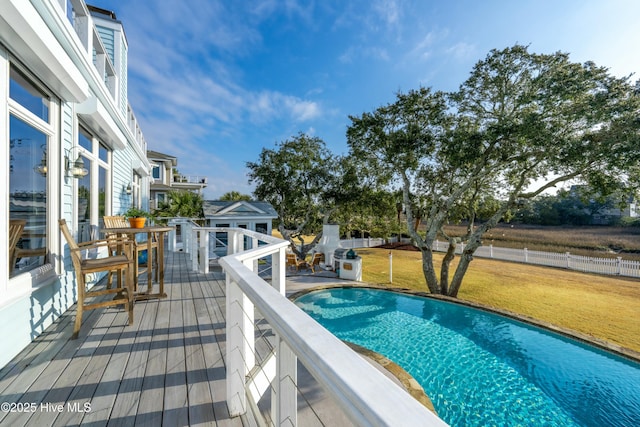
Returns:
[[[504,316],[377,289],[295,303],[402,366],[452,426],[638,426],[640,363]]]

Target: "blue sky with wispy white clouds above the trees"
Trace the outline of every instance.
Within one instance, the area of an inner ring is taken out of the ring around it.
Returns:
[[[349,115],[455,90],[493,49],[640,71],[636,0],[93,0],[123,22],[129,102],[149,149],[250,194],[246,162],[299,132],[347,152]],[[640,78],[634,76],[633,80]]]

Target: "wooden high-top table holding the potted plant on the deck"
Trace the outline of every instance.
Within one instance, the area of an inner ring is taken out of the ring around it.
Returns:
[[[165,225],[150,225],[142,228],[132,228],[132,227],[113,227],[113,228],[103,228],[100,231],[102,233],[115,233],[115,234],[126,234],[129,236],[129,239],[135,241],[136,234],[147,234],[147,279],[148,279],[148,287],[147,292],[145,293],[136,293],[135,299],[149,299],[149,298],[166,298],[167,294],[164,292],[164,236],[167,232],[175,230],[175,227],[165,226]],[[154,234],[158,235],[158,284],[160,285],[160,291],[156,294],[153,293],[153,256],[152,256],[152,237]],[[138,269],[138,257],[134,256],[135,270]],[[138,286],[138,278],[134,277],[134,287],[137,289]]]

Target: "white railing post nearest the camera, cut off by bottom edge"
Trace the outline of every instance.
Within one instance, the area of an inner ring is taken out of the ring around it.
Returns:
[[[271,394],[276,426],[298,425],[298,358],[280,336],[276,336],[276,378]]]

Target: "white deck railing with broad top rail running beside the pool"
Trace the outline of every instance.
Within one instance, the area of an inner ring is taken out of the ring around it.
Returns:
[[[219,262],[226,274],[227,405],[232,416],[248,410],[259,415],[257,402],[270,391],[267,422],[298,425],[299,360],[356,425],[446,425],[286,298],[288,242],[241,228],[201,228],[181,222],[181,229],[194,270],[202,272],[208,271],[209,233],[227,233],[228,255]],[[169,247],[171,238],[175,236],[170,236]],[[270,284],[257,274],[258,262],[268,257]],[[273,350],[260,361],[256,310],[274,334]]]

